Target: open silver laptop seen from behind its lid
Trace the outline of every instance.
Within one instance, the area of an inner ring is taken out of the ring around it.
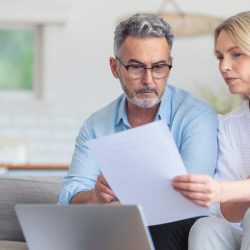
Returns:
[[[154,250],[136,205],[18,204],[29,250]]]

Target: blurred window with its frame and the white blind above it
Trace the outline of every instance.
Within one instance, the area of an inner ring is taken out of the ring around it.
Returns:
[[[0,106],[42,96],[43,28],[62,27],[68,9],[67,0],[0,0]]]

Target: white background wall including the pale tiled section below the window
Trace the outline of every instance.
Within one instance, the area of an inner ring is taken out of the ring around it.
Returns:
[[[21,138],[29,162],[68,163],[81,123],[121,93],[112,77],[113,32],[121,17],[158,11],[163,0],[71,0],[65,26],[45,29],[42,112],[0,110],[0,139]],[[185,12],[228,17],[249,10],[246,0],[178,0]],[[195,84],[224,83],[213,56],[211,35],[176,39],[170,82],[195,93]],[[41,123],[43,121],[43,123]],[[33,133],[32,133],[33,130]]]

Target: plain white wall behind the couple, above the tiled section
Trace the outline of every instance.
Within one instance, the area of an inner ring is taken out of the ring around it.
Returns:
[[[227,17],[249,10],[245,0],[178,0],[183,11]],[[63,28],[46,31],[46,98],[55,108],[86,118],[120,92],[109,69],[113,31],[120,17],[157,11],[162,0],[74,0]],[[222,85],[213,56],[211,35],[179,38],[173,46],[170,81],[183,88],[193,84]]]

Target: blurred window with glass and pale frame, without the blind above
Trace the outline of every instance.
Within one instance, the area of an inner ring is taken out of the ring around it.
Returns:
[[[41,32],[39,26],[0,27],[0,97],[39,96],[41,89]]]

